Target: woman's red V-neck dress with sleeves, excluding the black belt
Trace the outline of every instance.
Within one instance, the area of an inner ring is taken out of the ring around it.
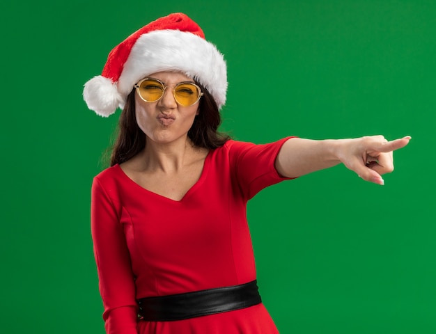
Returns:
[[[180,201],[143,189],[115,165],[95,177],[91,230],[108,334],[279,333],[263,304],[178,321],[137,318],[136,299],[256,279],[246,205],[285,180],[281,145],[228,141],[205,158]]]

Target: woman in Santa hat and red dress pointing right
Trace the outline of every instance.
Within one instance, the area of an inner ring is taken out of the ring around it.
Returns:
[[[278,333],[258,294],[247,201],[340,163],[383,184],[410,140],[233,141],[217,132],[226,89],[223,56],[181,13],[130,35],[85,85],[100,116],[123,109],[91,203],[108,334]]]

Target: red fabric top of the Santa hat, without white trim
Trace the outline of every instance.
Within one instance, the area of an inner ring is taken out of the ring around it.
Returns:
[[[140,38],[144,33],[149,33],[150,31],[166,29],[194,33],[194,35],[198,35],[203,39],[205,38],[200,26],[183,13],[173,13],[165,17],[159,17],[159,19],[150,22],[138,31],[132,33],[132,35],[112,49],[107,57],[107,62],[103,67],[102,76],[111,79],[112,82],[118,81],[123,72],[124,64],[127,61],[127,58],[129,58],[130,51],[138,38]]]

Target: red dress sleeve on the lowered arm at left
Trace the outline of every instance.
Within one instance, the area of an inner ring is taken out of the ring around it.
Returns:
[[[104,305],[107,334],[137,334],[134,276],[114,189],[95,177],[91,195],[91,233]],[[111,195],[111,196],[109,196]]]

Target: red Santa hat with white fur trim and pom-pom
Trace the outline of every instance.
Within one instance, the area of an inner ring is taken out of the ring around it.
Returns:
[[[226,102],[227,70],[223,55],[205,40],[187,15],[161,17],[132,33],[110,52],[102,75],[84,86],[88,108],[107,117],[123,109],[134,84],[150,74],[178,71],[205,87],[217,102]]]

